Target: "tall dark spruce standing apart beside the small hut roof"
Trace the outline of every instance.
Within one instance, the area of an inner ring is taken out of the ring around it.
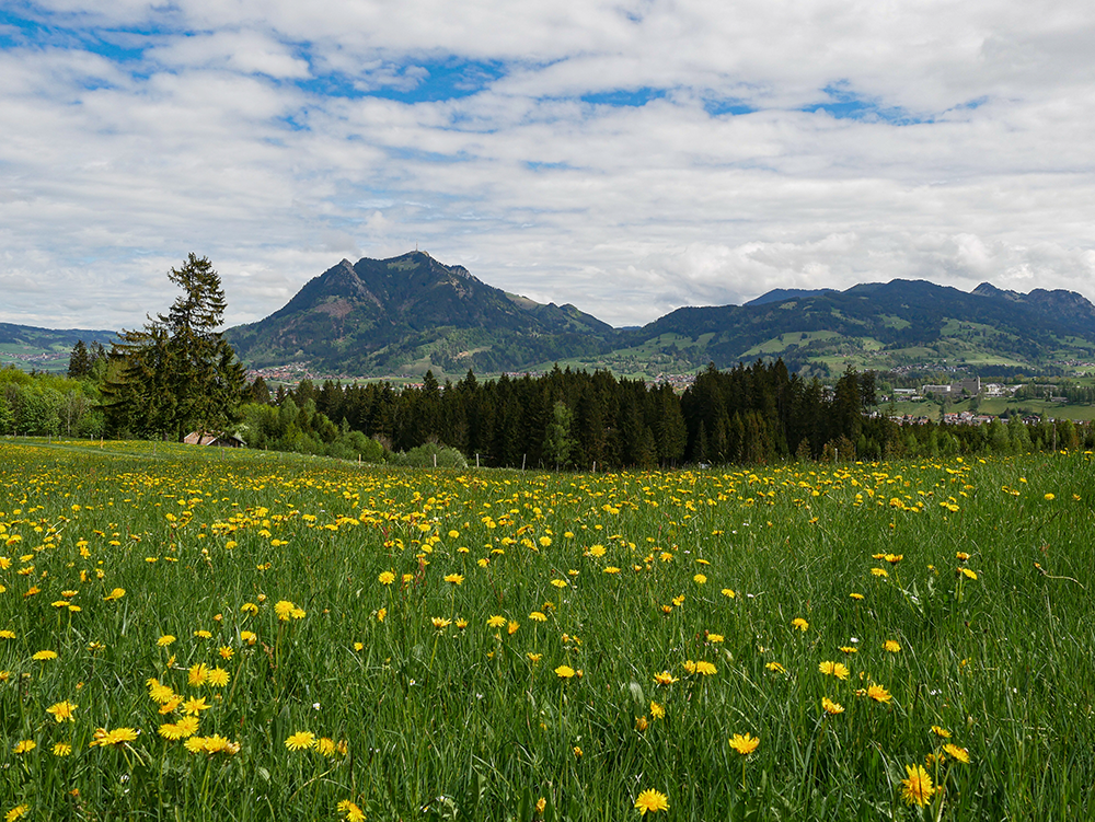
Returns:
[[[120,334],[104,407],[114,429],[131,436],[219,432],[237,419],[245,389],[243,366],[217,331],[226,308],[220,275],[191,253],[168,279],[183,294],[145,328]]]

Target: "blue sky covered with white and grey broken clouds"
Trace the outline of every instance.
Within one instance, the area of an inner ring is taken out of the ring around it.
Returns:
[[[773,288],[1095,300],[1095,5],[4,0],[0,322],[228,325],[428,252],[613,325]]]

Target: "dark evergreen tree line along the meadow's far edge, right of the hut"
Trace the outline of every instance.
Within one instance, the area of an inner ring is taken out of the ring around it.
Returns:
[[[354,433],[395,452],[438,443],[470,464],[586,471],[1095,447],[1092,425],[1071,420],[900,426],[873,413],[873,372],[849,369],[828,386],[789,373],[781,360],[708,367],[682,395],[608,371],[555,368],[487,381],[469,371],[443,385],[427,372],[420,386],[402,391],[304,380],[268,396],[265,385],[252,385],[243,409],[249,444],[348,459],[370,459]]]

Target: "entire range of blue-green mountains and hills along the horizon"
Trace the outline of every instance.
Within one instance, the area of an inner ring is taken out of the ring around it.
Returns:
[[[77,338],[111,334],[0,324],[0,358],[42,350],[60,368]],[[1095,359],[1095,305],[1072,291],[1024,294],[983,282],[966,292],[899,279],[845,291],[775,289],[745,305],[682,308],[638,328],[613,328],[569,303],[538,303],[416,251],[344,259],[280,310],[226,336],[252,368],[299,364],[343,377],[541,371],[557,362],[653,378],[777,356],[792,370],[822,373],[848,364],[1035,370]]]

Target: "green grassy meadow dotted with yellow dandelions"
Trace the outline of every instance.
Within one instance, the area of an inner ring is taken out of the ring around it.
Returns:
[[[0,813],[1092,818],[1092,459],[0,440]]]

